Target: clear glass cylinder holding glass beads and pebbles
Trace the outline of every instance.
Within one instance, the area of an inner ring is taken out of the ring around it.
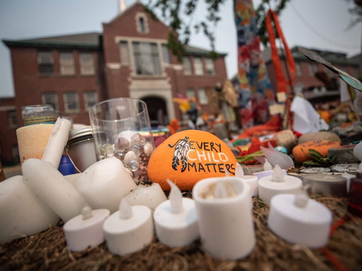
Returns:
[[[147,165],[155,149],[147,105],[139,99],[117,98],[89,109],[97,160],[114,156],[138,184],[148,181]]]

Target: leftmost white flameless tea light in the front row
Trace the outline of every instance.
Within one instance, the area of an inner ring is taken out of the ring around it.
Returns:
[[[110,212],[106,209],[92,210],[89,206],[82,213],[64,224],[64,236],[71,251],[81,251],[104,242],[103,224]]]

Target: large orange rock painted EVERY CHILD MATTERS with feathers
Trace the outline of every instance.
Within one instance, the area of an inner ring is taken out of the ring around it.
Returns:
[[[230,148],[213,134],[185,130],[173,134],[153,152],[148,162],[148,177],[164,191],[170,187],[166,179],[176,182],[181,190],[209,177],[235,175],[236,158]]]

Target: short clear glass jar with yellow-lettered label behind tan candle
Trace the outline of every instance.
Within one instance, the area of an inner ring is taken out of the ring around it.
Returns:
[[[54,124],[56,121],[56,112],[49,104],[23,106],[21,107],[21,116],[25,126],[33,124]]]

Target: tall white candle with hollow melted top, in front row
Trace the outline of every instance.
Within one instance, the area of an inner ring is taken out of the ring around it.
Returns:
[[[221,180],[220,180],[221,179]],[[210,190],[222,181],[228,197],[215,198]],[[217,258],[241,259],[255,245],[250,188],[237,177],[206,178],[198,181],[192,196],[198,215],[201,242]]]

